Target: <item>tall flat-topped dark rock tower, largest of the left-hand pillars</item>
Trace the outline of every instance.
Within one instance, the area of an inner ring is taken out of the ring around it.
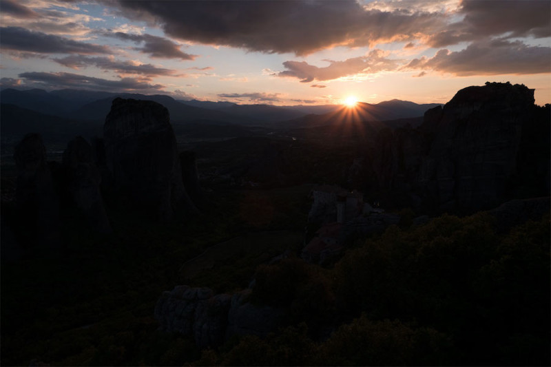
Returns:
[[[114,99],[103,127],[105,160],[116,191],[156,218],[171,218],[178,205],[193,209],[182,180],[168,110],[153,101]]]

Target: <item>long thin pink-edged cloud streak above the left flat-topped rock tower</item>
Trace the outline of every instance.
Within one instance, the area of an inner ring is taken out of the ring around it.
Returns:
[[[151,64],[136,63],[134,61],[118,61],[113,57],[89,57],[71,55],[63,59],[53,59],[61,65],[78,69],[79,67],[96,66],[103,70],[114,70],[121,74],[142,74],[145,76],[175,75],[176,70],[156,67]]]

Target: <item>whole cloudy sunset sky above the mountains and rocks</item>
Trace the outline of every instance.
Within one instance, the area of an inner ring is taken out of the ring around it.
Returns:
[[[324,105],[551,103],[551,1],[0,0],[0,87]]]

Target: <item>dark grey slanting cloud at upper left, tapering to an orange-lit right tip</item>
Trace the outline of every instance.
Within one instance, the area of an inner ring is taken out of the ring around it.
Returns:
[[[143,43],[143,46],[135,48],[144,54],[160,59],[195,60],[197,55],[186,54],[180,50],[180,45],[169,39],[151,34],[129,34],[123,32],[103,32],[104,36],[111,36],[123,41]]]

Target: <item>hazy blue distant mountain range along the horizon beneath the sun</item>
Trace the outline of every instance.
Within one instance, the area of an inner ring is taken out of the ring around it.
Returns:
[[[242,136],[242,127],[269,129],[301,129],[339,124],[346,121],[366,122],[373,127],[399,127],[416,125],[427,109],[437,104],[418,105],[408,101],[385,101],[377,104],[358,103],[354,109],[342,105],[238,105],[223,101],[177,101],[165,95],[96,92],[85,90],[14,90],[0,92],[1,132],[8,137],[19,138],[25,132],[41,132],[48,136],[67,134],[92,134],[101,131],[105,116],[114,98],[134,98],[156,101],[169,110],[175,125],[214,122],[208,130],[220,129],[221,124],[231,124],[224,129]],[[388,121],[388,123],[386,123]],[[189,126],[191,127],[191,126]],[[184,129],[182,126],[178,130]],[[189,131],[189,128],[184,130]],[[206,131],[206,130],[205,130]],[[203,134],[201,134],[203,135]],[[220,135],[220,134],[215,134]],[[3,141],[6,142],[6,136]]]

